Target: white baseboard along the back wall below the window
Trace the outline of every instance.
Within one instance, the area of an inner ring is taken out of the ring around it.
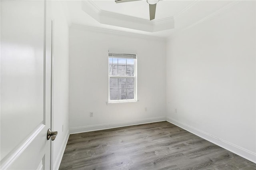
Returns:
[[[140,120],[135,120],[135,121],[123,122],[123,123],[106,123],[106,124],[101,124],[101,125],[76,127],[76,128],[70,128],[69,132],[70,132],[70,134],[75,134],[75,133],[90,132],[90,131],[95,131],[95,130],[104,130],[104,129],[110,129],[110,128],[141,125],[141,124],[146,124],[146,123],[154,123],[154,122],[162,122],[162,121],[166,121],[166,117],[154,117],[154,118],[149,118],[149,119],[140,119]]]

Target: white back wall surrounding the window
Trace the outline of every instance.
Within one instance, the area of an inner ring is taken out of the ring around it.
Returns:
[[[165,47],[160,38],[71,26],[70,133],[166,120]],[[137,53],[138,102],[106,105],[109,49]]]

